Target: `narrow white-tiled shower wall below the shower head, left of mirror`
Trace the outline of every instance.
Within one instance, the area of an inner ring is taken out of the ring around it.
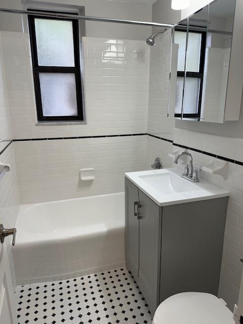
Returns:
[[[168,118],[168,96],[171,60],[171,30],[156,37],[150,46],[148,133],[173,140],[174,118]],[[147,168],[158,156],[163,167],[171,167],[171,143],[148,136]]]

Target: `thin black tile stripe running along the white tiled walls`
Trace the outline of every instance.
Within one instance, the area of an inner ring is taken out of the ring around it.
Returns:
[[[193,147],[189,147],[189,146],[185,146],[185,145],[181,145],[181,144],[176,144],[173,142],[173,140],[169,140],[167,138],[163,138],[163,137],[159,137],[159,136],[156,136],[156,135],[152,135],[152,134],[149,134],[149,133],[139,133],[139,134],[120,134],[120,135],[94,135],[94,136],[76,136],[76,137],[47,137],[47,138],[23,138],[23,139],[14,139],[14,140],[10,140],[8,145],[5,146],[5,148],[0,151],[0,155],[4,153],[4,151],[10,146],[10,144],[12,142],[26,142],[26,141],[46,141],[46,140],[68,140],[68,139],[85,139],[85,138],[105,138],[105,137],[126,137],[126,136],[150,136],[150,137],[153,137],[153,138],[156,138],[156,139],[159,139],[159,140],[162,140],[162,141],[166,141],[166,142],[169,142],[169,143],[172,143],[172,145],[174,146],[178,146],[178,147],[181,147],[181,148],[185,148],[185,149],[188,149],[188,150],[191,150],[191,151],[194,151],[194,152],[198,152],[198,153],[201,153],[201,154],[205,154],[205,155],[209,155],[209,156],[212,156],[212,157],[216,157],[216,158],[219,158],[221,160],[224,160],[224,161],[227,161],[227,162],[230,162],[230,163],[233,163],[233,164],[237,164],[239,166],[243,166],[243,161],[237,161],[237,160],[233,160],[231,158],[228,158],[228,157],[225,157],[225,156],[221,156],[221,155],[216,155],[216,154],[213,154],[213,153],[210,153],[210,152],[207,152],[207,151],[202,151],[202,150],[198,150],[197,148],[193,148]]]

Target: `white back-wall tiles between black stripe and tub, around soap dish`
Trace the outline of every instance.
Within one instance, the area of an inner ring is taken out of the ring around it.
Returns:
[[[147,136],[15,142],[21,203],[124,191],[124,173],[146,167]],[[78,172],[95,169],[95,180]]]

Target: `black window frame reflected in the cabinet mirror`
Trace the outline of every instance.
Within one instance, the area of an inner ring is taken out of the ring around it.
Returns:
[[[187,33],[187,30],[185,28],[175,28],[175,31],[184,31],[185,33]],[[183,113],[183,114],[182,113],[175,113],[175,117],[199,120],[200,119],[200,114],[201,114],[201,99],[202,99],[202,96],[203,96],[204,66],[205,66],[205,51],[206,51],[207,31],[193,30],[193,27],[190,26],[188,32],[194,32],[194,33],[201,34],[199,71],[198,72],[177,71],[177,76],[195,77],[195,78],[200,79],[197,113]],[[183,94],[185,94],[185,89],[183,91]]]

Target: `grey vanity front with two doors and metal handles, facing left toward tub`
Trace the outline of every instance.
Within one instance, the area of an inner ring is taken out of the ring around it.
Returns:
[[[138,205],[136,205],[138,203]],[[125,178],[126,266],[153,314],[159,302],[161,207]]]

